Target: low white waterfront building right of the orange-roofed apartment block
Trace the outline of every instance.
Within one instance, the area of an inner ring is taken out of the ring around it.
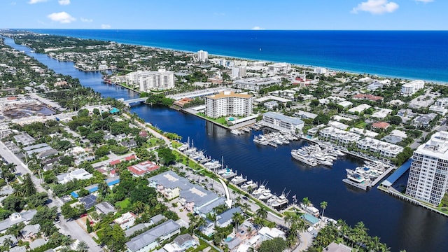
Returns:
[[[281,113],[267,112],[263,114],[261,124],[281,132],[295,134],[296,130],[302,130],[304,122],[299,118],[285,116]]]

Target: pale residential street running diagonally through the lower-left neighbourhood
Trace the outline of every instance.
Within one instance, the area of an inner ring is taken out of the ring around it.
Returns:
[[[58,197],[53,197],[52,193],[49,193],[45,188],[41,186],[41,181],[34,176],[34,174],[28,169],[27,165],[25,165],[22,160],[14,155],[6,146],[0,141],[0,154],[5,158],[6,161],[15,165],[15,169],[20,174],[30,174],[31,180],[36,186],[36,190],[40,193],[47,193],[48,198],[50,199],[50,203],[48,203],[48,207],[57,207],[57,211],[60,213],[62,207],[62,200]],[[71,235],[72,238],[78,239],[80,241],[85,241],[87,246],[89,246],[89,251],[102,251],[102,248],[98,246],[98,244],[90,237],[81,228],[76,221],[65,221],[63,216],[59,217],[60,223],[56,224],[56,227],[59,228],[59,232],[64,235]]]

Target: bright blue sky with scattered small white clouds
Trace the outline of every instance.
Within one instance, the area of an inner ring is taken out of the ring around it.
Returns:
[[[447,0],[1,0],[0,28],[447,30]]]

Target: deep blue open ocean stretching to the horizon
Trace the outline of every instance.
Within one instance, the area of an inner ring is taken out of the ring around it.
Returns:
[[[448,82],[448,31],[30,29],[377,76]]]

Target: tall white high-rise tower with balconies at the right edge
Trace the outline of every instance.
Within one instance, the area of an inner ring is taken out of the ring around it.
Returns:
[[[448,187],[448,132],[436,132],[414,151],[406,195],[440,204]]]

